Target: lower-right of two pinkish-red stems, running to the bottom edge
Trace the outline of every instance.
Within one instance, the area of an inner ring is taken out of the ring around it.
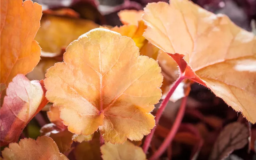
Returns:
[[[164,139],[164,142],[157,149],[157,151],[149,158],[149,160],[155,160],[155,159],[159,158],[164,153],[166,148],[170,145],[170,143],[172,142],[176,132],[179,129],[181,121],[183,119],[183,116],[185,113],[185,108],[186,108],[186,103],[187,103],[187,98],[188,97],[186,96],[182,99],[182,102],[181,102],[181,105],[179,108],[179,112],[176,116],[174,123],[172,124],[172,128],[171,128],[170,132],[168,133],[167,137]]]

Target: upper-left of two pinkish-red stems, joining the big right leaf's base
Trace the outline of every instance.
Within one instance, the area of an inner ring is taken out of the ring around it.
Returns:
[[[163,112],[164,112],[164,108],[166,107],[167,103],[169,102],[170,97],[172,96],[172,93],[175,91],[175,89],[177,88],[177,86],[180,84],[180,82],[182,82],[182,80],[184,80],[186,77],[183,75],[180,75],[180,77],[172,84],[172,87],[170,88],[169,92],[167,93],[166,97],[164,98],[164,100],[162,101],[160,107],[158,108],[157,112],[156,112],[156,125],[158,124],[160,117],[162,116]],[[143,144],[143,151],[144,153],[147,154],[148,152],[148,148],[150,145],[150,142],[153,138],[153,135],[156,131],[156,126],[151,130],[151,132],[149,133],[149,135],[146,137],[144,144]]]

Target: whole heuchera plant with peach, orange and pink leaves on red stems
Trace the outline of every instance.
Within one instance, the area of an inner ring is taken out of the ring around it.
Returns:
[[[47,10],[42,17],[41,5],[30,0],[0,3],[0,146],[9,144],[3,159],[155,160],[170,153],[179,130],[192,133],[196,155],[200,134],[181,124],[194,82],[256,122],[256,37],[225,15],[171,0],[121,11],[124,25],[111,27],[80,20],[71,9]],[[37,78],[42,80],[32,80]],[[180,84],[181,96],[175,96]],[[180,98],[171,130],[159,126],[164,140],[148,152],[167,103]],[[26,125],[49,104],[51,123],[42,126],[43,136],[24,138]],[[209,159],[243,148],[249,132],[240,122],[228,124]]]

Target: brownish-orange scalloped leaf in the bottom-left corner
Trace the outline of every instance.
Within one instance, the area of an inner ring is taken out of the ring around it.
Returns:
[[[9,148],[2,151],[4,160],[6,159],[58,159],[68,160],[66,156],[60,153],[56,143],[49,137],[38,137],[37,140],[22,139],[18,143],[9,144]]]

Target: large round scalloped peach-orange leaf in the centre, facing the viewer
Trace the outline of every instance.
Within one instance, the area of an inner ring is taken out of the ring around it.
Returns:
[[[155,60],[139,56],[131,38],[97,28],[47,70],[46,97],[70,132],[89,135],[99,128],[107,142],[141,140],[155,126],[149,112],[161,97],[160,72]]]

